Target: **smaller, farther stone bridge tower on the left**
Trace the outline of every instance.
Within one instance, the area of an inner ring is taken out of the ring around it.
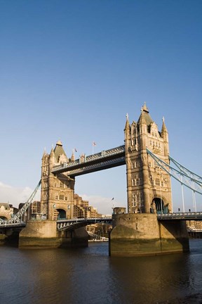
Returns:
[[[53,175],[54,165],[69,162],[61,141],[58,141],[50,154],[44,152],[41,166],[41,213],[48,220],[72,218],[74,213],[74,179],[66,173]]]

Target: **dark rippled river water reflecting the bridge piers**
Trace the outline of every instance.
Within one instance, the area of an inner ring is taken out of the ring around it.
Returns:
[[[0,303],[202,303],[202,239],[191,239],[190,249],[114,258],[108,243],[74,250],[1,246]]]

